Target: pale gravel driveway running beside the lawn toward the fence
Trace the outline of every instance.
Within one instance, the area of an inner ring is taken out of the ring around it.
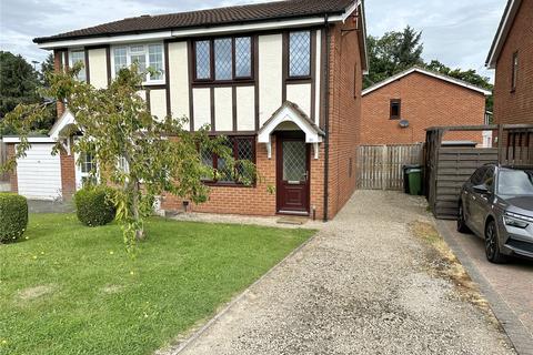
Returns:
[[[514,354],[491,314],[430,276],[425,202],[358,191],[180,354]],[[182,344],[183,346],[183,344]]]

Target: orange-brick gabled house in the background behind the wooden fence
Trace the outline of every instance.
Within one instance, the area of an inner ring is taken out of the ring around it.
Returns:
[[[490,94],[464,81],[413,67],[363,90],[361,144],[412,144],[425,142],[430,126],[484,124],[485,97]],[[484,141],[481,132],[450,132],[444,139]]]

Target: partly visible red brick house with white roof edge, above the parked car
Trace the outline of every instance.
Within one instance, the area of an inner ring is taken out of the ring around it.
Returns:
[[[533,0],[510,0],[486,58],[494,123],[533,124]]]

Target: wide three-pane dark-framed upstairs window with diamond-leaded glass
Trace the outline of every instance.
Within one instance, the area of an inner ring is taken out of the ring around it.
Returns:
[[[210,82],[252,79],[251,37],[195,41],[194,79]]]

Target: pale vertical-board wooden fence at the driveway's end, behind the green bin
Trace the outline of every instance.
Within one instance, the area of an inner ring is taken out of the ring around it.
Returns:
[[[402,190],[405,164],[422,164],[423,144],[361,145],[358,189]]]

